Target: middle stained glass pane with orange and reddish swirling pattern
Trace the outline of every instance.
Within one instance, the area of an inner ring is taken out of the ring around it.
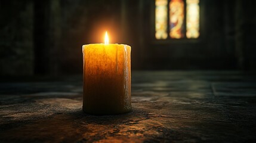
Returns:
[[[184,2],[171,0],[169,2],[169,36],[180,39],[184,37]]]

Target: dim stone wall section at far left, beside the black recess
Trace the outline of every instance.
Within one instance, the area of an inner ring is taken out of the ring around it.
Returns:
[[[0,1],[0,75],[33,74],[33,2]]]

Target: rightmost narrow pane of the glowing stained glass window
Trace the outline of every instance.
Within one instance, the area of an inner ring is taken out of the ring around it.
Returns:
[[[199,0],[187,0],[187,38],[199,36]]]

